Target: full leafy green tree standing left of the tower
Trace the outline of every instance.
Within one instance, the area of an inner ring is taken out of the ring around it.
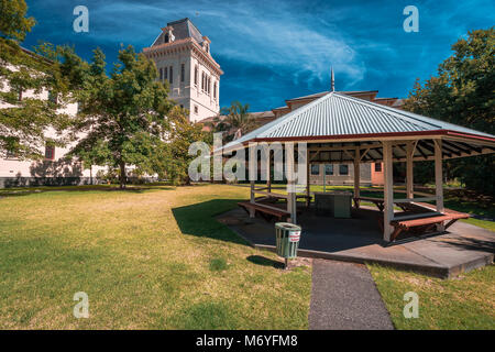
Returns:
[[[169,130],[166,113],[173,103],[167,88],[156,80],[153,62],[138,55],[132,46],[121,50],[118,58],[120,63],[107,76],[103,53],[94,52],[77,92],[81,107],[74,133],[85,136],[73,153],[118,167],[120,187],[124,188],[127,166],[135,167],[135,173],[154,172],[154,152],[165,143]]]

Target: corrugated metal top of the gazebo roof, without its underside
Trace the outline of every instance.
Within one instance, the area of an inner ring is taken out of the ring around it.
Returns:
[[[495,136],[487,133],[334,91],[228,143],[224,148],[237,148],[249,141],[334,140],[338,142],[338,140],[349,141],[350,139],[365,140],[377,136],[397,138],[447,134],[448,132],[495,142]]]

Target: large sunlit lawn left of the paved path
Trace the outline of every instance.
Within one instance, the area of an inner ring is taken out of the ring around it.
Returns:
[[[308,327],[310,268],[274,267],[213,219],[248,189],[45,190],[0,194],[1,329]]]

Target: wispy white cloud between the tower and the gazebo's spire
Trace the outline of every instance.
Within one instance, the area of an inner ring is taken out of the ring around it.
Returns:
[[[200,15],[211,24],[204,31],[211,33],[210,37],[221,37],[221,46],[213,42],[212,48],[222,56],[292,69],[295,82],[301,73],[328,80],[331,65],[354,82],[364,76],[364,64],[339,32],[328,34],[320,24],[315,25],[316,21],[311,23],[283,3],[238,4]]]

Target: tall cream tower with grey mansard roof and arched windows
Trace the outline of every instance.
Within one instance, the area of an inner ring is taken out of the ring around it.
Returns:
[[[168,81],[169,98],[189,111],[189,121],[220,112],[220,76],[223,72],[210,53],[211,41],[189,19],[167,23],[152,46],[143,50]]]

